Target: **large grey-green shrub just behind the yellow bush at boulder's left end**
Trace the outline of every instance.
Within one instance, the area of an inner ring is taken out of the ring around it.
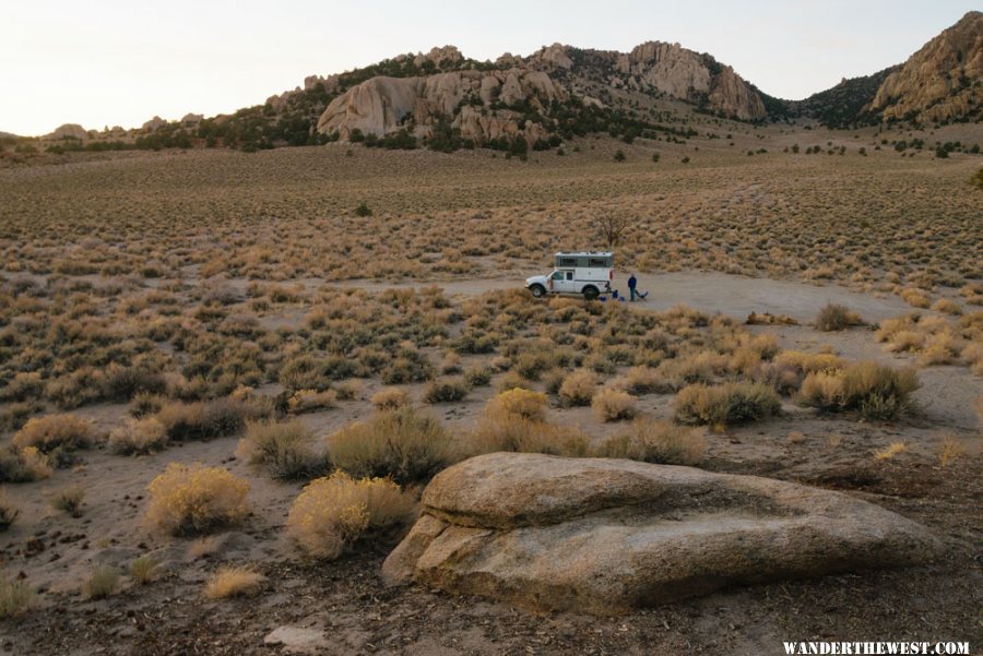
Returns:
[[[427,480],[453,458],[443,425],[405,406],[332,433],[328,453],[335,467],[352,476],[388,476],[401,485]]]

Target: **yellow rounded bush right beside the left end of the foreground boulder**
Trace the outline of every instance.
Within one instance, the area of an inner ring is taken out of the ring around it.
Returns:
[[[406,523],[415,500],[387,478],[344,472],[311,481],[291,506],[287,533],[313,558],[333,560],[357,540]]]

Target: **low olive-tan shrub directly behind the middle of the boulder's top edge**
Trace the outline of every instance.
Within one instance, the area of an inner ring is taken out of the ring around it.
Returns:
[[[703,429],[639,419],[628,432],[605,440],[592,455],[663,465],[699,465],[706,450]]]

